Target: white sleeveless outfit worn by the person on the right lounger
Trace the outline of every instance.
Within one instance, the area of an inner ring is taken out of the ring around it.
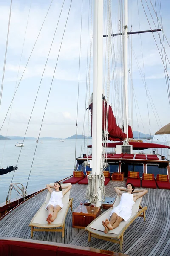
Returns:
[[[132,215],[133,204],[135,204],[133,194],[123,193],[120,198],[120,204],[111,211],[111,215],[112,213],[116,213],[124,221],[127,221]]]

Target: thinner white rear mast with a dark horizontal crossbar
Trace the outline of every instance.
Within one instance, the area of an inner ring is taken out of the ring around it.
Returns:
[[[128,35],[127,35],[127,27],[128,25],[128,0],[124,0],[124,76],[125,76],[125,123],[124,123],[124,132],[127,133],[128,139]]]

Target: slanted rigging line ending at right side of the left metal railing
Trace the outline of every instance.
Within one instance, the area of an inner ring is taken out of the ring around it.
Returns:
[[[71,0],[71,3],[72,3],[72,0]],[[68,10],[68,16],[69,16],[70,9],[71,9],[71,3],[70,3],[69,10]],[[64,32],[63,32],[63,35],[62,35],[62,41],[63,41],[64,35],[65,35],[65,29],[66,29],[67,22],[68,22],[68,16],[67,16],[67,20],[66,20],[66,23],[65,23]],[[57,61],[56,61],[56,65],[55,65],[55,69],[54,69],[54,73],[53,73],[52,81],[51,81],[51,86],[50,86],[50,90],[49,90],[49,93],[48,93],[48,98],[47,98],[47,102],[46,102],[46,105],[45,105],[44,114],[43,114],[43,117],[42,117],[42,122],[41,122],[40,132],[41,132],[42,123],[43,123],[43,120],[44,120],[44,116],[45,116],[46,108],[47,108],[47,105],[48,105],[48,99],[49,99],[49,96],[50,96],[51,87],[52,87],[53,80],[54,80],[54,75],[55,75],[55,71],[56,71],[56,67],[57,67],[57,63],[58,63],[58,59],[59,59],[59,54],[60,54],[60,50],[61,50],[61,46],[62,46],[62,41],[61,41],[61,44],[60,44],[60,47],[59,47],[59,53],[58,53],[58,57],[57,57]],[[39,132],[39,135],[38,135],[38,140],[39,140],[39,137],[40,137],[40,132]],[[38,145],[38,143],[37,143],[37,145]],[[35,147],[34,157],[35,157],[35,153],[36,153],[36,150],[37,150],[37,145],[36,145],[36,147]],[[33,162],[34,162],[34,157],[33,157],[33,160],[32,160],[32,164],[31,164],[31,169],[30,169],[29,177],[30,177],[30,175],[31,175],[31,170],[32,170]],[[28,177],[28,181],[29,181],[29,177]],[[26,185],[26,190],[27,190],[27,186],[28,186],[28,181],[27,181],[27,185]]]

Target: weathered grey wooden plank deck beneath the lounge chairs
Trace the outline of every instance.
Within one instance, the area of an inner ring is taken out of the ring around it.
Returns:
[[[110,181],[105,186],[105,195],[114,197],[114,186],[124,186],[124,181]],[[70,196],[73,210],[79,202],[85,200],[87,185],[73,185]],[[0,221],[0,236],[31,239],[29,223],[46,198],[46,191],[14,209]],[[170,191],[164,189],[148,189],[142,198],[142,206],[147,206],[146,221],[137,218],[124,233],[123,250],[129,256],[168,256],[170,255]],[[119,244],[92,238],[88,242],[88,232],[72,227],[72,212],[68,211],[65,221],[65,236],[60,232],[34,232],[32,239],[65,244],[93,247],[119,252]]]

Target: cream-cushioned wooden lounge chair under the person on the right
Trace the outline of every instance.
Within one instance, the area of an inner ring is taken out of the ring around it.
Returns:
[[[119,227],[116,227],[113,230],[110,230],[107,234],[104,233],[104,227],[102,225],[102,221],[105,221],[105,219],[109,219],[111,215],[111,211],[114,207],[119,205],[120,198],[117,196],[116,201],[110,209],[105,211],[102,215],[100,215],[98,218],[96,218],[94,221],[92,221],[85,230],[89,232],[88,234],[88,241],[91,241],[91,237],[96,237],[99,239],[103,239],[106,241],[111,241],[113,243],[120,244],[120,251],[122,251],[122,244],[123,244],[123,234],[125,230],[130,226],[130,224],[133,223],[133,221],[139,216],[143,217],[145,221],[145,211],[147,210],[147,206],[141,207],[140,202],[142,200],[141,198],[138,198],[133,205],[132,209],[132,215],[131,218],[128,221],[122,221],[119,224]]]

